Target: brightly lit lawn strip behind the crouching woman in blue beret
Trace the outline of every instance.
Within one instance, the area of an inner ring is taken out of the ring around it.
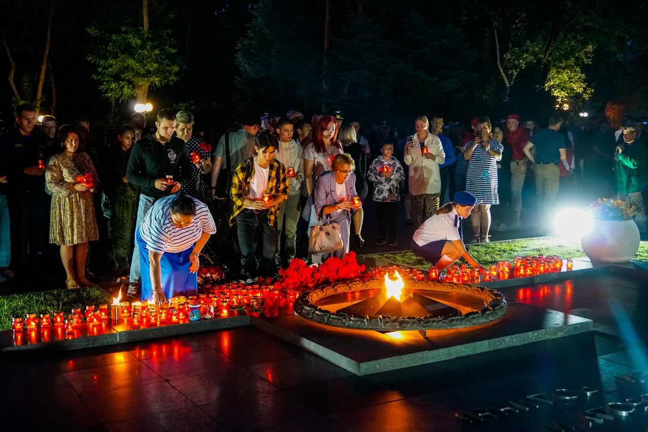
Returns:
[[[500,241],[495,243],[480,243],[478,245],[468,245],[470,254],[481,263],[489,265],[497,261],[509,261],[516,255],[520,256],[538,256],[558,255],[562,258],[580,258],[585,253],[581,248],[581,242],[565,242],[559,239],[538,238],[538,239],[518,239],[511,241]],[[411,252],[399,252],[398,254],[371,254],[373,258],[387,259],[403,265],[418,267],[427,270],[430,263]],[[648,242],[642,241],[639,250],[634,259],[648,261]]]

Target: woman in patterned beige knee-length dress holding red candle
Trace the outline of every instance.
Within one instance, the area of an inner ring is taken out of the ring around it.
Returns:
[[[60,246],[68,288],[94,285],[86,279],[85,269],[87,242],[99,238],[92,198],[97,171],[80,147],[75,126],[61,126],[54,143],[57,153],[45,170],[45,182],[52,192],[49,241]]]

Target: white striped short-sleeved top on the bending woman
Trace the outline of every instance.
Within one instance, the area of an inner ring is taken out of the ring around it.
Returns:
[[[139,226],[139,232],[148,250],[159,254],[177,254],[194,245],[203,232],[216,233],[216,224],[209,208],[196,198],[191,198],[196,204],[194,219],[185,228],[176,228],[171,219],[171,204],[176,196],[170,195],[157,200]]]

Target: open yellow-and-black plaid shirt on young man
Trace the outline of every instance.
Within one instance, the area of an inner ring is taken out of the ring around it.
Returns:
[[[229,218],[229,224],[233,225],[237,220],[237,215],[244,208],[246,198],[249,198],[249,182],[254,177],[254,156],[244,160],[238,165],[232,178],[232,200],[234,200],[234,211]],[[283,163],[276,159],[270,161],[270,170],[268,171],[268,188],[266,189],[270,196],[276,197],[283,193],[288,197],[290,187],[288,187],[288,175]],[[270,208],[268,211],[268,224],[275,226],[279,213],[279,204]]]

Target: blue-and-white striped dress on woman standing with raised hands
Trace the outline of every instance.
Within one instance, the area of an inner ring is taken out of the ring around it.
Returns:
[[[469,149],[472,142],[466,143],[463,150]],[[489,141],[489,147],[500,152],[504,150],[502,143],[496,139]],[[468,162],[466,190],[477,197],[477,204],[500,204],[497,194],[497,162],[481,144],[472,150]]]

